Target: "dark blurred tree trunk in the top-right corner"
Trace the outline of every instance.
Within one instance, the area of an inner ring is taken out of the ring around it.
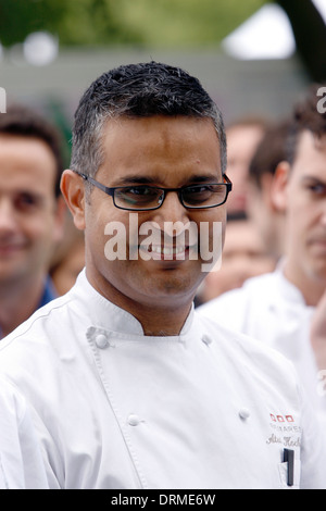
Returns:
[[[276,0],[287,13],[297,50],[315,82],[326,80],[326,24],[311,0]]]

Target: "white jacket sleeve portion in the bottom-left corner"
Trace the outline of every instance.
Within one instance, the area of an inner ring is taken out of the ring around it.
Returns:
[[[24,398],[0,379],[0,489],[47,489],[40,445]]]

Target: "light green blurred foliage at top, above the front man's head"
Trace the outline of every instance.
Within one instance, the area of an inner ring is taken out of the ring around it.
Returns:
[[[116,16],[148,46],[217,46],[268,0],[118,0]]]

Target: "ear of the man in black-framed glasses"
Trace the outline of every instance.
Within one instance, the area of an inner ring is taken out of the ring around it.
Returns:
[[[75,172],[64,171],[61,178],[61,191],[71,210],[74,224],[79,230],[85,229],[85,186],[83,177]]]

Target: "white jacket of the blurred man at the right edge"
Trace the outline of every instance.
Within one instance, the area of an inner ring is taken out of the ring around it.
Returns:
[[[198,308],[205,317],[260,339],[292,361],[309,399],[326,424],[326,397],[310,342],[313,307],[284,275],[284,262],[273,273],[249,278]]]

